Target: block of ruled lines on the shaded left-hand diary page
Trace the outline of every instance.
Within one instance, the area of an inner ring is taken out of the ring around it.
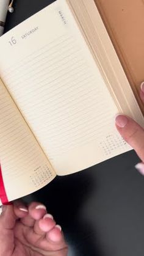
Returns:
[[[47,163],[38,142],[0,80],[0,159],[7,181],[30,173]],[[28,173],[29,172],[29,173]]]

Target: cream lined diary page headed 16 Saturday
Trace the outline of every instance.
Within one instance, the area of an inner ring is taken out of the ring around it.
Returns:
[[[66,1],[15,27],[0,45],[2,79],[57,174],[129,149],[113,123],[117,106]]]

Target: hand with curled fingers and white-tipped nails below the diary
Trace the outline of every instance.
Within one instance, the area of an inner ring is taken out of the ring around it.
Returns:
[[[4,205],[0,216],[0,256],[67,256],[59,225],[41,203]]]

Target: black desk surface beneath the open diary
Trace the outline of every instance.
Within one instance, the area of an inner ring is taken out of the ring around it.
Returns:
[[[5,31],[50,4],[15,0]],[[24,198],[45,203],[63,227],[70,256],[143,256],[144,178],[133,151],[74,175],[57,177]]]

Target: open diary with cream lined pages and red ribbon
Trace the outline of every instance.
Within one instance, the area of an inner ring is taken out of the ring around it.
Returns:
[[[115,114],[144,126],[93,0],[57,0],[0,38],[2,203],[131,148]]]

